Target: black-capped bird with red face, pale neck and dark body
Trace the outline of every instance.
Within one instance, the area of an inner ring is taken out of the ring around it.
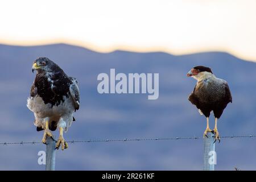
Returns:
[[[220,142],[220,135],[217,130],[217,120],[221,117],[224,109],[232,102],[232,95],[228,86],[228,82],[217,78],[213,75],[212,70],[208,67],[197,66],[187,73],[197,80],[193,92],[189,95],[188,100],[193,105],[196,105],[201,115],[207,117],[207,129],[204,132],[204,137],[207,137],[208,132],[215,135],[215,141]],[[215,127],[213,130],[209,128],[209,116],[213,111],[215,117]]]

